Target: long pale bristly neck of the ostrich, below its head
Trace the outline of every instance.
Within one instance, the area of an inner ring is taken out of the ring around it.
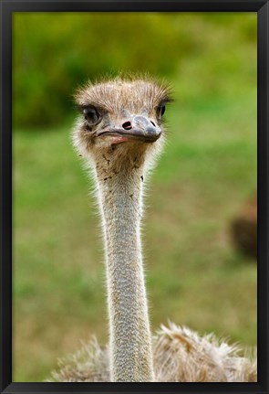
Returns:
[[[98,173],[109,301],[111,381],[153,381],[150,325],[140,245],[140,170]]]

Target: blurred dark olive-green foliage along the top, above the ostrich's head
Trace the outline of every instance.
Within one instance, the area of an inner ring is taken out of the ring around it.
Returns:
[[[255,27],[255,14],[16,13],[14,124],[64,122],[73,92],[88,79],[119,71],[170,79],[186,61],[195,72],[195,59],[203,56],[202,90],[212,91],[248,61],[242,54],[255,43]],[[233,46],[236,40],[240,48]],[[191,75],[187,82],[185,91]]]

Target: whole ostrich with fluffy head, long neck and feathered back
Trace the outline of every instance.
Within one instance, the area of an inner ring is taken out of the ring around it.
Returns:
[[[144,181],[165,141],[170,89],[150,79],[88,83],[73,143],[96,183],[106,255],[109,346],[92,339],[47,381],[255,381],[254,357],[214,335],[161,326],[151,337],[140,242]]]

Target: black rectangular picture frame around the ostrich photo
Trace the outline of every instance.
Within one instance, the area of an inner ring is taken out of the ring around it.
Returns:
[[[258,382],[257,383],[13,383],[12,382],[12,14],[18,11],[256,12],[258,22]],[[1,26],[1,393],[269,392],[268,0],[2,0]]]

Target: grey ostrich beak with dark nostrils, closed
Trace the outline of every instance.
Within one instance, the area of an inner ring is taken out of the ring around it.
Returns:
[[[161,129],[155,123],[151,122],[146,116],[134,116],[131,121],[123,122],[120,127],[108,127],[100,131],[97,136],[108,135],[115,137],[120,142],[129,140],[140,140],[144,143],[154,143],[160,138]]]

